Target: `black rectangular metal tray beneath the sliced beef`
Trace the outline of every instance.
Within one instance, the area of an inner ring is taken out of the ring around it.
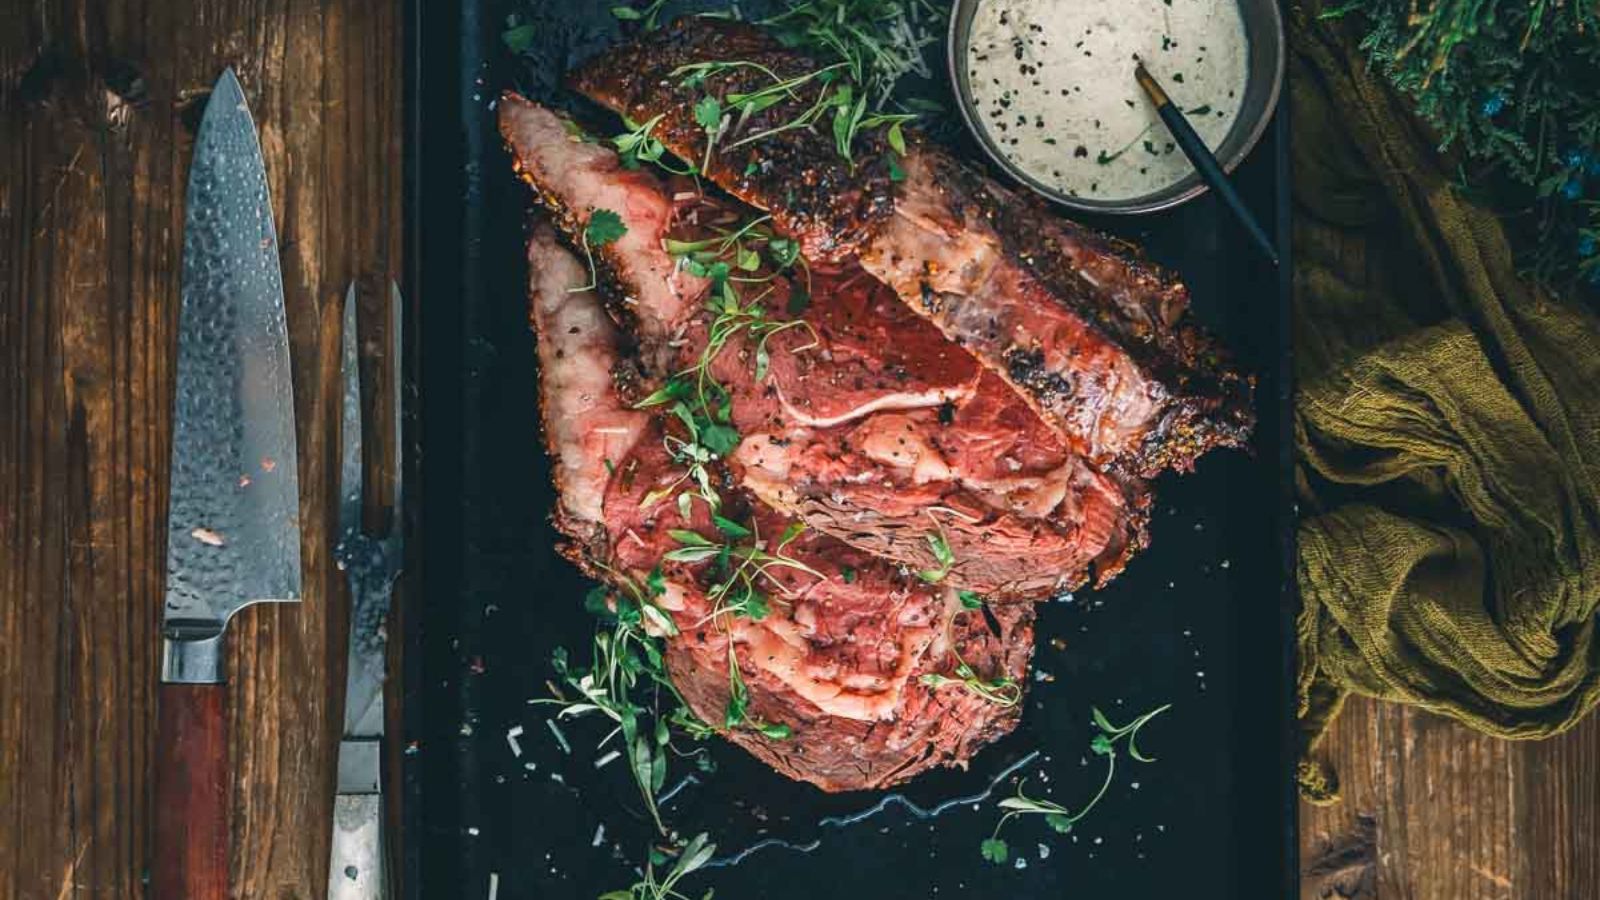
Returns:
[[[552,549],[523,299],[530,197],[491,107],[506,86],[573,104],[558,74],[616,38],[610,5],[411,3],[408,296],[422,484],[413,546],[422,549],[403,609],[406,897],[480,898],[493,882],[499,900],[594,898],[635,881],[651,838],[626,765],[594,769],[602,730],[566,724],[573,753],[563,753],[544,724],[549,708],[528,703],[547,693],[550,650],[587,647],[592,620],[584,580]],[[534,26],[531,62],[504,46],[510,13]],[[1285,135],[1280,114],[1237,181],[1286,247]],[[1179,271],[1200,319],[1258,375],[1253,452],[1162,477],[1152,548],[1107,589],[1040,610],[1035,669],[1053,681],[1030,685],[1022,725],[970,772],[923,777],[888,801],[827,796],[714,738],[718,770],[664,809],[720,847],[685,894],[1296,895],[1286,279],[1210,197],[1090,224]],[[1006,828],[1006,865],[979,857],[994,804],[1018,777],[1067,806],[1099,785],[1091,705],[1126,721],[1160,703],[1171,711],[1141,735],[1158,761],[1123,756],[1072,836],[1026,818]],[[522,756],[507,740],[515,725]]]

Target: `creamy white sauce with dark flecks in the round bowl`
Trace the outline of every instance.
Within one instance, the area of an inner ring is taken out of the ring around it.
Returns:
[[[1134,54],[1214,152],[1250,45],[1235,0],[986,0],[963,50],[976,117],[1008,160],[1064,194],[1128,200],[1194,171]]]

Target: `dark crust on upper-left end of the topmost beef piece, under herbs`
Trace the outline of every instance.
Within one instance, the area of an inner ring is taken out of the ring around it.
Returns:
[[[710,74],[699,88],[683,86],[688,72],[680,72],[682,67],[710,61],[749,66]],[[661,115],[653,135],[698,165],[706,155],[706,130],[694,120],[694,102],[707,94],[728,98],[771,86],[763,69],[779,78],[795,78],[819,66],[754,26],[690,16],[643,40],[608,50],[576,69],[571,83],[635,122]],[[840,157],[834,146],[832,114],[819,119],[816,128],[784,131],[782,139],[734,144],[794,122],[824,88],[813,78],[795,88],[794,99],[749,119],[733,115],[704,173],[738,197],[765,199],[760,205],[782,231],[802,242],[813,263],[850,258],[893,211],[883,130],[862,130],[856,136],[854,163]]]

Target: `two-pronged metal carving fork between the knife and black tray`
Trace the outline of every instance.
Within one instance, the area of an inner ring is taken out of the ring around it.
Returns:
[[[400,288],[389,288],[389,384],[394,424],[395,498],[389,528],[362,527],[362,376],[355,340],[355,285],[344,298],[344,420],[339,466],[339,548],[350,596],[350,652],[344,690],[344,738],[339,741],[339,793],[333,799],[333,855],[328,900],[387,897],[382,839],[384,623],[403,560],[400,439]]]

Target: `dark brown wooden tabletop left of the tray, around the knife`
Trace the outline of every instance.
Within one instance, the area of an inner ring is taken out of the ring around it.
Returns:
[[[306,586],[230,628],[232,892],[326,887],[338,314],[350,279],[400,275],[400,16],[0,0],[0,900],[146,895],[182,197],[224,66],[278,221]]]

